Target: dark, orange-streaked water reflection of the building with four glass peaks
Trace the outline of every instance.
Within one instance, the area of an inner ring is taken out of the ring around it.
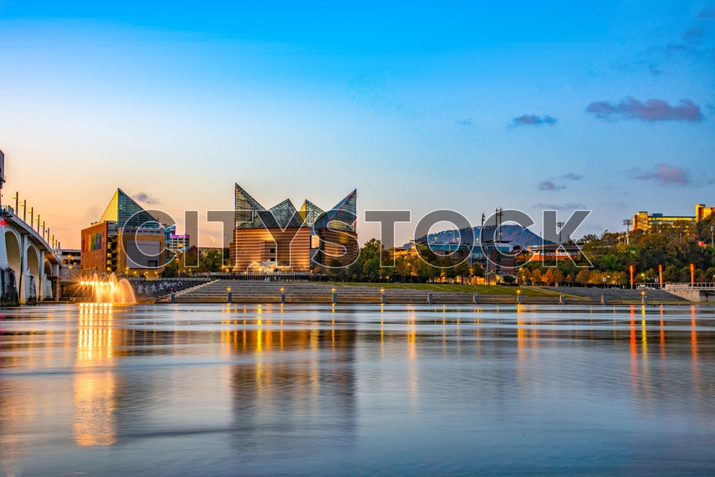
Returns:
[[[332,314],[332,310],[330,312]],[[355,418],[355,331],[335,320],[226,322],[235,447],[300,454],[326,429],[350,436]]]

